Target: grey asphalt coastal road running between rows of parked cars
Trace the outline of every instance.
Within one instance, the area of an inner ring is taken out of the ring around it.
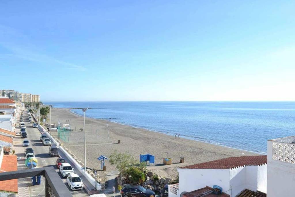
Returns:
[[[32,128],[32,124],[28,122],[28,117],[27,114],[24,113],[24,121],[26,124],[26,131],[28,135],[28,140],[30,141],[30,146],[34,150],[35,157],[38,160],[38,167],[54,167],[60,178],[63,180],[69,191],[72,193],[73,196],[80,197],[80,196],[89,196],[86,189],[83,188],[82,190],[76,190],[72,191],[69,187],[68,184],[66,184],[66,179],[62,178],[59,170],[55,166],[56,159],[58,157],[50,157],[48,154],[49,146],[44,146],[42,142],[40,141],[40,131],[37,128]],[[24,150],[27,147],[24,147]],[[65,158],[63,154],[60,154],[61,157]],[[23,156],[22,156],[23,157]],[[67,158],[65,158],[66,162],[69,162]],[[69,162],[71,165],[72,163]],[[73,166],[73,165],[72,165]],[[74,169],[75,173],[78,175],[81,175],[81,173],[78,172],[78,170]],[[83,179],[83,183],[85,182],[86,178],[81,177]],[[30,195],[31,196],[45,196],[45,186],[44,186],[45,180],[44,177],[41,179],[41,185],[34,185],[30,186]],[[85,184],[85,183],[84,183]]]

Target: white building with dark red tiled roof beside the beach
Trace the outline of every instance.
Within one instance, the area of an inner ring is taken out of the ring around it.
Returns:
[[[179,185],[170,186],[169,197],[197,196],[214,185],[222,188],[223,196],[237,196],[245,189],[266,193],[266,162],[266,155],[242,156],[178,168]],[[173,194],[175,186],[179,189]]]

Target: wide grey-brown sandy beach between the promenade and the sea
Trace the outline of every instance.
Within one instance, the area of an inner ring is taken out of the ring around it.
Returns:
[[[63,146],[73,152],[81,161],[84,161],[84,132],[80,130],[80,128],[83,128],[83,117],[63,108],[52,108],[51,116],[53,123],[59,121],[60,123],[71,124],[74,131],[65,136]],[[53,136],[57,136],[57,132],[53,132]],[[118,140],[121,140],[120,144],[117,144]],[[100,169],[100,162],[97,157],[100,155],[109,157],[114,150],[129,152],[138,160],[140,154],[153,154],[155,155],[155,165],[162,164],[163,158],[170,157],[172,163],[174,163],[171,167],[242,156],[243,154],[257,155],[253,152],[184,139],[181,136],[175,138],[175,136],[155,131],[86,117],[87,167]],[[184,164],[179,163],[180,157],[185,158]],[[108,171],[114,170],[114,166],[111,166],[108,162],[106,162],[106,167]]]

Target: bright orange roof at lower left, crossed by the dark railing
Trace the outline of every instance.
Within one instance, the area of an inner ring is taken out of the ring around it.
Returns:
[[[17,170],[17,156],[16,155],[3,155],[1,172],[10,172]],[[17,179],[0,181],[0,191],[17,193]]]

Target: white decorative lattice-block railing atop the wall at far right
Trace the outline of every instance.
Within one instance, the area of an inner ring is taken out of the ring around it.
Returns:
[[[295,144],[273,141],[272,159],[295,164]]]

